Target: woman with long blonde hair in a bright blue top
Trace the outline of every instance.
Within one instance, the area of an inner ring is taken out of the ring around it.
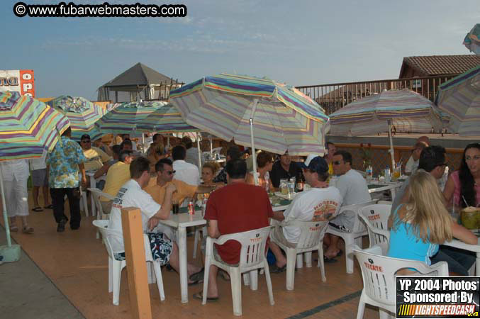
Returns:
[[[428,265],[438,245],[452,237],[471,245],[477,243],[474,233],[450,217],[435,178],[423,169],[411,177],[408,201],[391,215],[389,228],[387,256],[420,260]]]

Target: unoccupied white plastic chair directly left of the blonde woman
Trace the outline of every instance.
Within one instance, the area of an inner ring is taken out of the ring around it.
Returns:
[[[359,217],[362,218],[369,234],[370,247],[375,245],[381,247],[383,254],[389,250],[390,232],[389,216],[391,205],[374,204],[365,206],[360,210]]]

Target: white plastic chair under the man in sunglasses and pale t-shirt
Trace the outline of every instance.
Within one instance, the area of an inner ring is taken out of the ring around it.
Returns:
[[[353,211],[357,218],[355,218],[352,233],[347,233],[342,230],[339,230],[332,225],[329,225],[327,228],[328,234],[337,235],[338,237],[342,237],[342,240],[345,241],[345,262],[347,268],[347,274],[353,274],[353,255],[352,255],[352,247],[354,243],[362,247],[362,236],[367,235],[367,229],[365,228],[364,224],[360,221],[358,215],[359,210],[364,206],[369,206],[376,203],[376,200],[367,201],[367,203],[359,203],[355,205],[348,205],[342,206],[340,208],[340,212],[338,215],[345,213],[346,211]]]

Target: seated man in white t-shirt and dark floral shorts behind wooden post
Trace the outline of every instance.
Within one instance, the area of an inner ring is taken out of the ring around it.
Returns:
[[[165,197],[162,205],[153,200],[152,196],[143,187],[147,186],[150,180],[150,161],[145,157],[138,157],[130,164],[130,175],[132,179],[127,181],[118,191],[113,200],[108,229],[115,234],[110,235],[108,240],[117,260],[125,259],[125,248],[123,245],[123,229],[121,209],[125,207],[140,208],[142,213],[142,228],[150,239],[150,248],[153,259],[160,259],[160,264],[169,263],[173,269],[179,272],[179,251],[177,245],[169,240],[163,233],[149,233],[157,226],[160,219],[167,219],[170,216],[172,207],[172,194],[177,190],[174,184],[169,184],[165,190]],[[190,284],[198,283],[203,279],[203,270],[200,267],[188,264],[187,267]]]

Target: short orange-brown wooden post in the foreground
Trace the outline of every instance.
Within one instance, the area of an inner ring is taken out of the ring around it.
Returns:
[[[134,207],[122,209],[122,228],[132,318],[152,319],[140,209]]]

